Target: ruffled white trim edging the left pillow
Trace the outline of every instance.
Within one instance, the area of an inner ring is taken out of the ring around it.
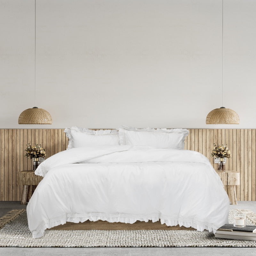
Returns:
[[[76,131],[76,132],[81,132],[81,133],[86,133],[91,135],[117,135],[118,134],[118,130],[94,131],[87,128],[72,126],[71,128],[66,128],[64,130],[64,132],[66,133],[66,136],[68,137],[68,149],[73,148],[73,138],[72,138],[71,131]]]

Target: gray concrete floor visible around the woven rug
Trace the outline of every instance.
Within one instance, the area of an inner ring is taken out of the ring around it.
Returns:
[[[20,202],[0,202],[0,216],[13,209],[26,208]],[[239,201],[237,205],[230,204],[230,209],[247,209],[256,213],[255,201]],[[0,248],[2,256],[23,256],[23,255],[47,255],[47,256],[69,256],[69,255],[211,255],[211,256],[243,256],[256,255],[256,248],[218,248],[218,247],[186,247],[186,248]]]

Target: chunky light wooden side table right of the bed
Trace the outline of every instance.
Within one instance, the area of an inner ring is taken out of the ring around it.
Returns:
[[[231,204],[237,204],[236,185],[240,185],[240,172],[234,171],[216,171],[224,186],[227,186],[228,197]]]

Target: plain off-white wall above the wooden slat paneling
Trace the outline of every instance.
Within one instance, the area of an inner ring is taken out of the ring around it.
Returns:
[[[240,125],[206,125],[221,107],[221,0],[0,0],[0,128],[77,125],[255,128],[256,1],[224,0],[224,106]]]

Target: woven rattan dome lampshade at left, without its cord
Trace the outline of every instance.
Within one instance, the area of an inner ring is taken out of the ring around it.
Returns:
[[[43,108],[28,108],[19,116],[19,124],[52,124],[52,116]]]

